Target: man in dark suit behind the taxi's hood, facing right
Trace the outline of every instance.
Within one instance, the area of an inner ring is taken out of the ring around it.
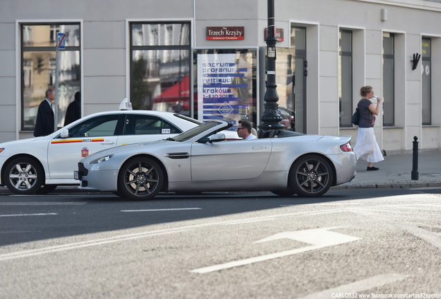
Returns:
[[[55,91],[46,90],[46,98],[40,103],[35,121],[34,136],[46,136],[53,133],[53,110],[52,102],[55,100]]]

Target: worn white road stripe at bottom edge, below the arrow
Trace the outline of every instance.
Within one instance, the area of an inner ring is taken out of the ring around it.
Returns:
[[[364,280],[358,280],[349,284],[343,284],[332,289],[327,289],[325,291],[310,293],[307,296],[300,297],[300,299],[330,298],[332,293],[358,293],[362,291],[367,291],[369,289],[374,289],[376,287],[381,287],[384,284],[390,284],[392,282],[404,280],[407,277],[408,275],[401,275],[397,273],[372,276]]]

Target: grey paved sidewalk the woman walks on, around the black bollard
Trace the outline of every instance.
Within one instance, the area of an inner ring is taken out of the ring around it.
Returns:
[[[418,180],[411,179],[413,154],[384,156],[384,161],[374,163],[376,171],[367,171],[367,162],[358,160],[357,174],[349,183],[331,189],[369,188],[422,188],[441,187],[441,150],[418,153]],[[58,186],[54,193],[88,193],[76,186]],[[96,192],[94,192],[96,193]],[[0,194],[12,194],[8,188],[0,187]]]

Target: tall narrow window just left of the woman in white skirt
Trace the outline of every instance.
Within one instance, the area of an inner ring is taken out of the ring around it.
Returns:
[[[340,30],[338,55],[338,97],[340,127],[352,127],[352,31]]]

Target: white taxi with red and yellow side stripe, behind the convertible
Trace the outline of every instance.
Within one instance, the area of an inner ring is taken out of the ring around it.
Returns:
[[[57,185],[78,185],[74,170],[89,154],[166,139],[200,125],[172,112],[130,110],[127,99],[120,109],[85,116],[48,136],[0,143],[0,185],[15,194],[46,194]]]

